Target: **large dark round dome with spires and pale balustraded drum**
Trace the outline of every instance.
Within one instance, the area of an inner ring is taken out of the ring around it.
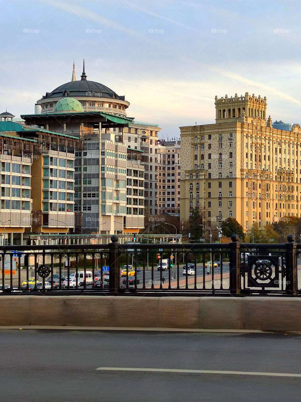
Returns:
[[[75,98],[83,111],[104,111],[120,116],[126,116],[126,109],[130,103],[124,96],[119,96],[115,91],[96,81],[87,80],[85,74],[85,61],[81,80],[76,81],[75,67],[73,64],[72,80],[55,88],[37,101],[41,106],[41,113],[53,113],[57,103],[63,98]]]

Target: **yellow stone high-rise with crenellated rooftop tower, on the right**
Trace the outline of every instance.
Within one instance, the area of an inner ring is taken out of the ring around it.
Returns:
[[[234,217],[247,232],[301,216],[301,127],[275,129],[266,97],[215,97],[216,123],[180,127],[180,216],[208,226]]]

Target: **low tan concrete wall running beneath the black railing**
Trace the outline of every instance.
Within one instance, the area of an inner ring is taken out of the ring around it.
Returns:
[[[281,297],[0,296],[0,326],[301,331],[300,300]]]

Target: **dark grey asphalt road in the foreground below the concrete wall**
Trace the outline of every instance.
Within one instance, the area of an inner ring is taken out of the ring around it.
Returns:
[[[300,341],[299,334],[0,330],[0,396],[5,402],[299,400]],[[113,369],[97,370],[104,367]]]

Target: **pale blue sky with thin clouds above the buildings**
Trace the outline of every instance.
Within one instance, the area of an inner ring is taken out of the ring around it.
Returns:
[[[215,95],[260,94],[273,121],[301,123],[299,1],[0,0],[0,16],[0,112],[34,113],[84,58],[165,139],[214,123]]]

